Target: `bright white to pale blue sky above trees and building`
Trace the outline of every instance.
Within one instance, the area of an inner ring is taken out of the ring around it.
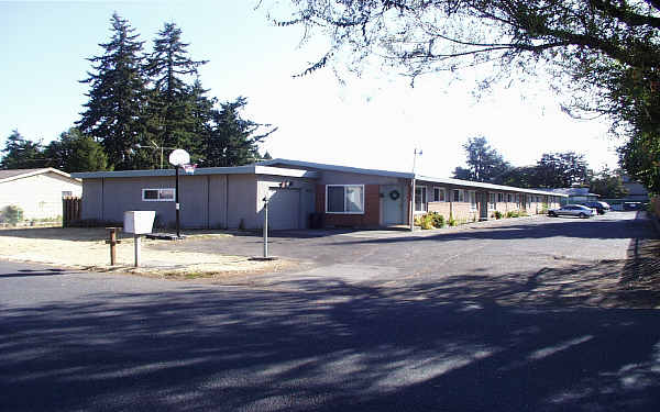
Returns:
[[[286,1],[285,1],[286,2]],[[576,121],[539,82],[497,87],[476,100],[470,80],[405,78],[377,71],[337,81],[330,70],[292,75],[316,60],[299,47],[300,29],[276,27],[256,0],[0,1],[0,145],[18,129],[47,143],[70,127],[87,101],[86,58],[102,54],[117,11],[141,34],[145,49],[165,22],[175,22],[194,59],[207,59],[200,79],[221,101],[249,99],[245,116],[278,131],[262,146],[273,157],[448,177],[464,164],[462,144],[484,135],[515,166],[542,153],[574,151],[590,166],[616,167],[607,123]],[[469,78],[470,76],[466,76]]]

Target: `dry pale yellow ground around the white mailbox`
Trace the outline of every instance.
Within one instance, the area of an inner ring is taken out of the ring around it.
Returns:
[[[231,236],[195,231],[190,238]],[[108,230],[38,227],[0,231],[0,259],[33,261],[95,271],[132,272],[172,279],[216,278],[277,271],[295,265],[290,260],[260,261],[246,256],[167,250],[154,246],[186,241],[142,238],[141,267],[134,267],[133,235],[120,232],[117,265],[110,266]]]

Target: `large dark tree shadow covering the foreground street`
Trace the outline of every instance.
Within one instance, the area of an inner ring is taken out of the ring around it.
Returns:
[[[2,304],[0,408],[657,409],[657,311],[543,289],[570,274],[466,274],[393,288],[302,279],[275,290]]]

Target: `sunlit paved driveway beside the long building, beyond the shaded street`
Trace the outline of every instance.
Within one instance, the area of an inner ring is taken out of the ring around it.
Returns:
[[[353,286],[410,287],[432,282],[474,286],[482,279],[495,288],[572,278],[583,280],[579,286],[584,287],[584,293],[593,294],[588,291],[592,285],[583,285],[585,278],[623,271],[629,266],[635,240],[652,237],[650,221],[636,219],[636,212],[613,212],[588,220],[509,219],[415,233],[280,232],[270,238],[271,253],[300,259],[302,265],[287,274],[231,281],[271,286],[284,282],[293,287],[296,279],[336,279]],[[190,241],[176,247],[258,255],[263,241],[256,235],[243,235]],[[616,281],[616,276],[609,280]],[[606,283],[607,279],[603,281]],[[560,286],[571,289],[569,283]],[[572,289],[571,292],[575,293]],[[594,299],[600,298],[605,297],[598,294]]]

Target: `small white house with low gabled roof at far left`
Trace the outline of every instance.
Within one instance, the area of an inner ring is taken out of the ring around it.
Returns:
[[[81,192],[80,180],[52,167],[0,170],[0,213],[19,207],[24,220],[62,216],[62,198]]]

